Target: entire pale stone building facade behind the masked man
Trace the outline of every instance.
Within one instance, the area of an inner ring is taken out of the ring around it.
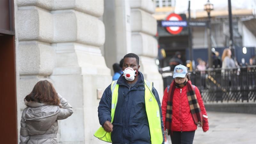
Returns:
[[[112,64],[129,52],[140,56],[140,71],[162,97],[154,12],[152,0],[14,0],[18,131],[24,97],[47,79],[74,110],[59,121],[58,141],[105,143],[93,136],[97,107]]]

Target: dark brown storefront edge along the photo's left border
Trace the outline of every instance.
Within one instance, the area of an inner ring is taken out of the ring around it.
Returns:
[[[13,15],[13,0],[0,0],[0,140],[3,144],[18,143]]]

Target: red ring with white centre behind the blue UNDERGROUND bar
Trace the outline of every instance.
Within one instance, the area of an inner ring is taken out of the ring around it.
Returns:
[[[176,13],[171,13],[170,15],[167,16],[166,20],[180,21],[182,20],[182,18],[180,17],[180,15]],[[173,35],[179,34],[182,31],[182,29],[183,27],[166,27],[166,30]]]

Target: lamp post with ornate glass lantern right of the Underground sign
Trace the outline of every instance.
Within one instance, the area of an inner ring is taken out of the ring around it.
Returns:
[[[207,27],[207,34],[208,34],[208,66],[212,68],[212,50],[211,50],[211,16],[210,13],[213,10],[213,4],[210,3],[208,0],[206,4],[204,4],[204,10],[208,14],[208,27]]]

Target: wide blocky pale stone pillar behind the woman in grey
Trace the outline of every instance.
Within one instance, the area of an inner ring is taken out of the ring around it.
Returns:
[[[17,6],[20,109],[36,82],[47,79],[74,110],[59,121],[58,141],[100,143],[93,137],[100,127],[97,107],[111,83],[99,48],[105,42],[103,0],[17,0]]]

